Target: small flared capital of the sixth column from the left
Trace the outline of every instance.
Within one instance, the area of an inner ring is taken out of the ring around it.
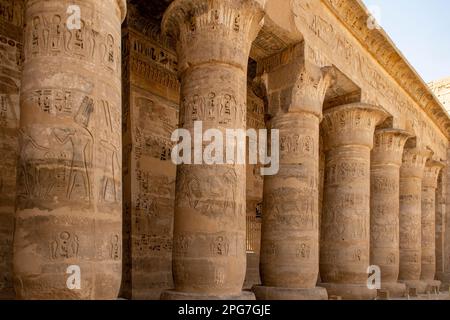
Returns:
[[[402,177],[423,178],[425,164],[433,152],[422,148],[406,148],[401,166]]]

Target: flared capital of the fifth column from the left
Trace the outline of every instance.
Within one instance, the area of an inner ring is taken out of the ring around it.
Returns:
[[[406,141],[412,135],[399,129],[380,129],[375,131],[375,143],[372,150],[372,165],[402,164]]]

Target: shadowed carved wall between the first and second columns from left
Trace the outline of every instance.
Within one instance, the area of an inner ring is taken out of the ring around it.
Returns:
[[[124,235],[122,295],[159,299],[172,287],[172,234],[176,166],[170,137],[178,126],[179,83],[175,54],[158,26],[139,25],[129,8],[123,30]],[[124,74],[124,76],[125,76]]]

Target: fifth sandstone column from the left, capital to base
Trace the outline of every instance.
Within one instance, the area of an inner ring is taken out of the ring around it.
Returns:
[[[371,162],[370,194],[370,264],[381,269],[381,287],[391,296],[400,297],[405,284],[398,283],[399,184],[403,148],[410,135],[402,130],[375,132]]]

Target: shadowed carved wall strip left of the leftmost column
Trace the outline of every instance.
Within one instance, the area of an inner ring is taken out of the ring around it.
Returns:
[[[0,1],[0,299],[14,297],[12,236],[16,196],[23,1]]]

